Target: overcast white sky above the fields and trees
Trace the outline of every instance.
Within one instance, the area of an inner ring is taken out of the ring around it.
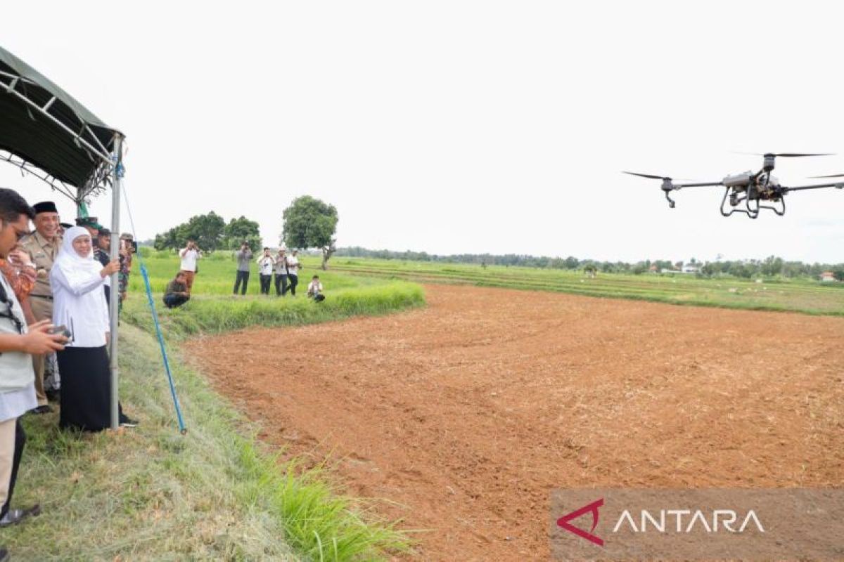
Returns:
[[[721,217],[699,180],[844,173],[841,8],[784,2],[38,2],[2,45],[127,135],[138,237],[298,195],[338,245],[599,260],[844,261],[844,191]],[[49,189],[0,166],[31,202]],[[59,197],[59,195],[56,195]],[[60,201],[65,217],[69,202]],[[100,197],[92,211],[110,217]],[[125,217],[125,213],[124,213]],[[125,230],[125,228],[124,228]]]

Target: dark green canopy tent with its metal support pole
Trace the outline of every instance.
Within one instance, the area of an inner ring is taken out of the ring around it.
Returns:
[[[123,134],[0,47],[0,161],[45,181],[82,207],[111,187],[111,259],[120,233]],[[111,276],[117,286],[117,275]],[[117,334],[111,291],[111,334]],[[111,427],[117,428],[117,337],[111,338]]]

